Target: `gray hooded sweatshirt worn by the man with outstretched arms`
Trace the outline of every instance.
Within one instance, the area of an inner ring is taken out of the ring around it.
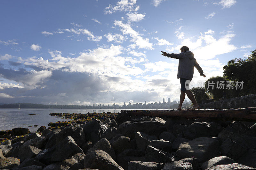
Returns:
[[[191,51],[183,51],[180,54],[167,54],[167,56],[179,59],[177,78],[186,78],[191,81],[194,75],[194,67],[196,67],[200,75],[204,74],[202,68],[196,62],[194,54]]]

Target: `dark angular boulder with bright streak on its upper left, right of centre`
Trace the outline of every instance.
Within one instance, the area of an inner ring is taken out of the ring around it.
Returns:
[[[151,136],[143,132],[134,132],[136,146],[139,150],[145,151],[152,140],[156,140],[156,136]]]

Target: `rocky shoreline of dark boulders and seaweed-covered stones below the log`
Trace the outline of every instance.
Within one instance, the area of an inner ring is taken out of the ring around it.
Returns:
[[[51,115],[73,120],[0,131],[0,170],[256,169],[256,122]]]

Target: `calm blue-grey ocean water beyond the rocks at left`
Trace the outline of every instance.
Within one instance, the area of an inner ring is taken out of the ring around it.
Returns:
[[[50,122],[68,121],[62,117],[49,115],[50,113],[103,113],[120,112],[121,109],[0,109],[0,130],[11,130],[13,128],[28,128],[30,132],[36,131],[40,126],[47,126]],[[36,115],[28,115],[36,114]],[[34,127],[34,125],[38,125]],[[31,127],[28,127],[31,126]]]

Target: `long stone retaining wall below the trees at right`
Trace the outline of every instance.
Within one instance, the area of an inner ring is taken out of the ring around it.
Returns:
[[[202,108],[244,108],[256,107],[256,94],[235,97],[202,104]]]

